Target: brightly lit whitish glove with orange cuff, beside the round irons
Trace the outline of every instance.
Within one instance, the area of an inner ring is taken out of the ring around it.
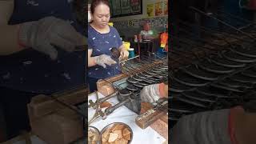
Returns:
[[[157,102],[160,96],[159,84],[144,86],[140,93],[142,102]]]

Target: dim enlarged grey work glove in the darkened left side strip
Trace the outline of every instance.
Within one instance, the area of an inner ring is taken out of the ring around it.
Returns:
[[[54,17],[22,23],[18,38],[22,45],[49,55],[53,60],[58,57],[54,46],[71,52],[75,46],[86,45],[86,38],[79,34],[70,22]]]

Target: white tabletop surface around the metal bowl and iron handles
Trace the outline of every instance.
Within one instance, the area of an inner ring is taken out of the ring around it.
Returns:
[[[104,97],[102,94],[98,93],[99,98]],[[92,93],[88,96],[89,99],[95,101],[96,100],[96,94]],[[110,98],[108,102],[111,103],[112,106],[114,106],[117,102],[117,98]],[[92,115],[94,114],[94,110],[92,108],[88,109],[88,119],[92,118]],[[146,129],[142,130],[140,127],[138,127],[135,123],[135,118],[138,116],[138,114],[135,114],[131,110],[129,110],[126,106],[121,106],[117,110],[114,110],[114,112],[107,116],[105,120],[102,120],[99,118],[96,122],[92,122],[90,126],[94,126],[98,128],[98,130],[102,130],[105,126],[107,126],[110,123],[113,122],[124,122],[127,125],[130,126],[130,128],[133,130],[134,138],[131,142],[131,144],[137,144],[137,143],[150,143],[150,144],[162,144],[163,142],[166,142],[166,138],[163,138],[161,134],[158,134],[157,131],[155,131],[150,126]]]

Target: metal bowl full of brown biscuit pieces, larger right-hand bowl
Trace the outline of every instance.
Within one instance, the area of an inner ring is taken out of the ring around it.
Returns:
[[[130,144],[133,131],[122,122],[114,122],[105,126],[100,134],[102,144]]]

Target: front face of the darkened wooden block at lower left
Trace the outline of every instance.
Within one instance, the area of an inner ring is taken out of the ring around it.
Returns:
[[[70,109],[36,118],[30,121],[30,126],[33,134],[49,144],[68,144],[83,136],[82,118]]]

